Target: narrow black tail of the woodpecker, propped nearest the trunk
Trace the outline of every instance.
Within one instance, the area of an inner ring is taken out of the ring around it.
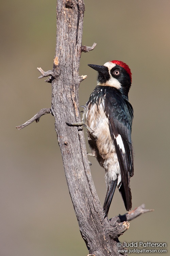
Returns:
[[[109,211],[109,208],[110,208],[110,205],[112,202],[112,198],[115,193],[116,185],[117,185],[117,179],[115,181],[111,181],[111,184],[109,185],[109,187],[107,189],[107,194],[106,194],[104,204],[103,204],[103,210],[105,212],[104,217],[107,217],[107,215],[108,215],[108,211]]]

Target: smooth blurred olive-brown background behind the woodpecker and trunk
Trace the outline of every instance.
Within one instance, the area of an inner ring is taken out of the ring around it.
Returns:
[[[82,53],[80,75],[87,79],[80,86],[80,105],[96,86],[97,73],[88,63],[128,63],[133,73],[133,209],[142,203],[155,209],[134,219],[120,241],[168,242],[170,1],[84,2],[82,44],[97,46]],[[37,67],[52,69],[55,10],[56,1],[1,2],[1,256],[88,254],[69,196],[53,116],[43,116],[20,131],[15,128],[51,106],[51,85],[37,79]],[[95,159],[89,160],[103,204],[104,170]],[[125,212],[116,191],[109,217]]]

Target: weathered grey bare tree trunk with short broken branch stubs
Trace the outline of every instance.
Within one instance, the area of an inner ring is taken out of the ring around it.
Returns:
[[[88,52],[95,47],[95,44],[92,47],[82,46],[84,10],[83,0],[57,0],[53,70],[44,72],[38,68],[41,73],[39,78],[50,76],[46,82],[52,83],[51,112],[55,118],[69,193],[89,253],[95,256],[122,255],[118,252],[121,247],[117,247],[117,242],[118,237],[129,228],[126,215],[122,218],[124,222],[118,216],[111,222],[108,218],[104,219],[90,174],[83,130],[66,124],[81,121],[78,92],[80,82],[86,76],[79,76],[80,57],[82,51]],[[34,120],[38,122],[40,116],[47,113],[50,109],[43,109],[28,123],[17,128],[21,129]]]

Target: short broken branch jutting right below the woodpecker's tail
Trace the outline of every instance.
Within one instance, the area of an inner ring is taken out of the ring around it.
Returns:
[[[139,215],[146,213],[146,212],[152,212],[154,210],[152,209],[145,209],[145,204],[140,205],[139,207],[135,208],[133,211],[126,213],[124,215],[115,216],[110,219],[111,224],[115,227],[119,223],[122,223],[124,221],[131,221],[132,219],[138,217]]]

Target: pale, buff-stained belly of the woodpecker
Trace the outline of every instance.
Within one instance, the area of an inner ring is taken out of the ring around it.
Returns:
[[[108,118],[106,117],[103,104],[93,104],[86,113],[87,125],[94,131],[88,132],[89,145],[100,163],[105,169],[105,180],[108,185],[118,177],[118,184],[121,182],[120,166],[115,151],[115,145],[110,135]],[[95,117],[95,118],[94,118]]]

